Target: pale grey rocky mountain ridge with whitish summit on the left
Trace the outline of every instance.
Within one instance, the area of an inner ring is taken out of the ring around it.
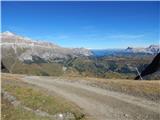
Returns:
[[[32,61],[33,56],[37,56],[44,60],[55,58],[64,58],[68,56],[90,56],[92,53],[84,48],[64,48],[49,42],[34,41],[32,39],[22,37],[11,32],[1,33],[1,48],[13,49],[17,54],[17,49],[21,49],[18,59],[21,61]]]

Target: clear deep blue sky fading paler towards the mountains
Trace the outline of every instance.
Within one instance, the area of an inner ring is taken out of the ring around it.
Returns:
[[[2,32],[64,47],[159,44],[160,2],[2,2]]]

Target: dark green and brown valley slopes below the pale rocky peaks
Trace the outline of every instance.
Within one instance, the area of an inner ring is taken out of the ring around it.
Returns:
[[[78,57],[71,58],[69,60],[63,60],[62,63],[48,63],[43,60],[36,60],[33,63],[26,64],[16,60],[15,54],[9,52],[11,50],[3,51],[7,52],[3,54],[2,62],[10,72],[15,74],[28,74],[39,76],[83,76],[83,77],[101,77],[101,78],[117,78],[117,79],[133,79],[137,76],[137,72],[134,67],[138,67],[139,71],[142,71],[147,64],[150,63],[153,56],[123,56],[123,57],[102,57],[88,58]],[[19,50],[19,54],[22,50]],[[15,62],[16,61],[16,62]],[[14,64],[14,66],[13,66]],[[133,67],[132,69],[128,67]],[[67,67],[67,70],[63,70],[63,66]],[[12,70],[11,70],[12,68]],[[152,79],[158,79],[157,75]]]

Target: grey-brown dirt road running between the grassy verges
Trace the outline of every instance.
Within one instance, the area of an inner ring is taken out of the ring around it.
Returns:
[[[54,91],[80,106],[95,120],[160,120],[160,105],[83,82],[58,78],[25,77],[24,81]]]

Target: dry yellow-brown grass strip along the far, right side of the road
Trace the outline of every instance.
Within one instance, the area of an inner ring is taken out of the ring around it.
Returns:
[[[101,78],[80,78],[65,77],[68,80],[84,80],[91,86],[122,92],[138,97],[143,97],[155,102],[160,101],[160,80],[140,81],[126,79],[101,79]]]

